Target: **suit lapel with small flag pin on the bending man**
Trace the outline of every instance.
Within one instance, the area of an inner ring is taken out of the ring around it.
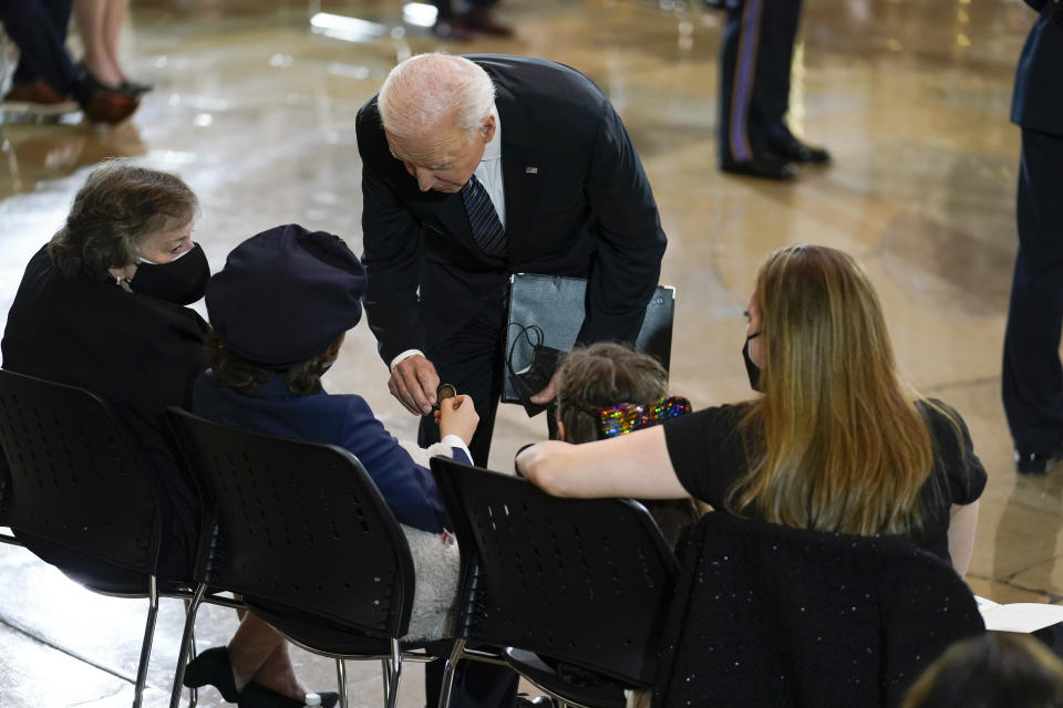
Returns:
[[[506,191],[509,262],[519,263],[532,243],[532,215],[539,198],[539,180],[544,179],[539,174],[541,150],[533,139],[524,107],[497,77],[495,88],[495,106],[502,121],[502,180]]]

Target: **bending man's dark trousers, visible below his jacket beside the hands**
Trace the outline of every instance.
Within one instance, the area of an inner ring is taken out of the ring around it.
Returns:
[[[468,451],[478,467],[487,466],[491,436],[495,427],[495,412],[502,396],[502,333],[505,326],[503,298],[484,301],[479,313],[441,345],[426,352],[435,365],[440,381],[454,384],[457,393],[473,397],[479,425]],[[421,419],[417,442],[421,446],[438,442],[440,428],[432,416]]]

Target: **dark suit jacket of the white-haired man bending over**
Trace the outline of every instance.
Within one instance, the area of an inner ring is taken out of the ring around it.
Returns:
[[[358,114],[365,310],[385,362],[427,351],[498,296],[509,273],[589,279],[579,342],[633,340],[665,238],[639,156],[609,100],[540,59],[468,56],[492,77],[502,125],[509,253],[473,240],[460,194],[422,192],[384,138],[376,97]],[[419,299],[420,288],[420,299]]]

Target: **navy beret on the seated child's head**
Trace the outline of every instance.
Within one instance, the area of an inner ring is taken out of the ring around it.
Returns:
[[[207,283],[225,345],[269,368],[324,352],[362,316],[365,271],[339,237],[289,223],[252,236]]]

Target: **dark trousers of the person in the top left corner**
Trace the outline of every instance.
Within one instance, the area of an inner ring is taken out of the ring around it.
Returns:
[[[14,83],[43,80],[64,96],[78,71],[66,53],[73,0],[0,0],[0,23],[19,48]]]

